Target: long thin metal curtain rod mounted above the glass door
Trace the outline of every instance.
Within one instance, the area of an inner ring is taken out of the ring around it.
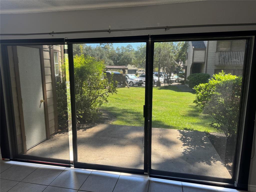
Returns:
[[[127,29],[102,29],[102,30],[87,30],[87,31],[64,31],[64,32],[50,32],[50,33],[3,33],[0,36],[12,36],[12,35],[58,35],[58,34],[75,34],[75,33],[102,33],[102,32],[117,32],[117,31],[138,31],[138,30],[155,30],[164,29],[165,31],[175,28],[191,28],[191,27],[219,27],[219,26],[251,26],[256,23],[237,23],[237,24],[209,24],[209,25],[182,25],[182,26],[162,26],[162,27],[143,27],[143,28],[127,28]]]

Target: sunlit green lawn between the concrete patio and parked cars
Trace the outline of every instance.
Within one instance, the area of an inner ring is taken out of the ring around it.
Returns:
[[[115,116],[112,124],[144,126],[145,88],[118,88],[101,109]],[[175,86],[153,88],[152,127],[217,132],[210,127],[211,118],[199,112],[193,103],[194,93],[182,92]]]

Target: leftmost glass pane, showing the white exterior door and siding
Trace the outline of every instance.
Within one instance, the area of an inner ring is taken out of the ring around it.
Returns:
[[[54,49],[62,58],[58,78]],[[63,53],[63,45],[8,46],[19,154],[70,159]]]

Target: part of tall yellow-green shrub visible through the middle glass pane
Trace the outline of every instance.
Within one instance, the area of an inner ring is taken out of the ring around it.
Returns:
[[[107,103],[109,94],[116,93],[116,82],[108,82],[103,70],[104,61],[84,54],[74,56],[74,77],[76,91],[77,120],[95,122],[99,117],[99,107]]]

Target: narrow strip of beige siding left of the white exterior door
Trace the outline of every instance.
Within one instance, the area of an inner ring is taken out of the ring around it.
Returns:
[[[15,118],[16,136],[17,136],[17,145],[18,145],[17,147],[18,147],[18,153],[22,153],[23,142],[22,142],[22,135],[21,135],[21,128],[20,128],[17,86],[16,86],[12,46],[8,46],[7,49],[8,49],[9,68],[10,68],[10,78],[11,78],[11,85],[12,85],[14,118]]]

